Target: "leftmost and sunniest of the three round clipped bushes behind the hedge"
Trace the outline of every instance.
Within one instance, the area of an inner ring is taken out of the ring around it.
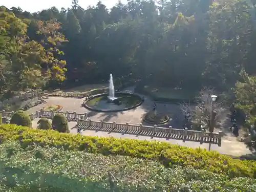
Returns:
[[[22,110],[16,111],[10,121],[11,124],[22,125],[22,126],[32,126],[32,121],[27,113]]]

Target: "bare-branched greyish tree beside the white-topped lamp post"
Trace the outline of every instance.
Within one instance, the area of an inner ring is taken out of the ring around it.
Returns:
[[[196,99],[196,104],[190,105],[188,103],[181,104],[181,110],[184,115],[189,114],[189,120],[193,126],[201,127],[201,125],[213,132],[214,127],[222,127],[226,120],[226,109],[222,107],[222,102],[212,103],[211,95],[214,95],[213,88],[204,87]]]

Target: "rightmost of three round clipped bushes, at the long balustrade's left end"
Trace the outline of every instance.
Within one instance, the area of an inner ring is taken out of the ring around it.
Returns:
[[[62,114],[57,114],[52,119],[52,129],[60,133],[69,133],[68,120]]]

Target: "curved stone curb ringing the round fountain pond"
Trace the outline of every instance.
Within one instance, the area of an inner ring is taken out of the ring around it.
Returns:
[[[84,108],[86,108],[86,109],[88,109],[88,110],[90,110],[90,111],[104,112],[104,113],[122,112],[122,111],[128,111],[128,110],[132,110],[132,109],[137,108],[137,107],[140,106],[140,105],[144,102],[144,100],[145,100],[144,98],[141,98],[141,97],[140,97],[139,95],[137,95],[137,94],[132,94],[132,93],[120,93],[120,92],[118,92],[118,93],[115,94],[116,96],[118,96],[118,95],[132,95],[132,96],[136,96],[136,97],[140,98],[141,101],[140,101],[139,103],[137,103],[136,105],[134,105],[134,106],[130,106],[129,108],[123,108],[123,109],[120,109],[120,110],[99,110],[99,109],[93,109],[93,108],[91,108],[90,106],[87,105],[87,103],[88,103],[89,101],[91,101],[92,99],[94,99],[94,98],[101,97],[101,96],[108,96],[108,95],[109,95],[108,93],[103,93],[103,94],[98,94],[98,95],[94,96],[93,98],[91,98],[91,99],[89,99],[89,100],[86,101],[86,103],[85,103],[85,105],[84,105]]]

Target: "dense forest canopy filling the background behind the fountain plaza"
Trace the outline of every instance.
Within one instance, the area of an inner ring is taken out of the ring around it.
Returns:
[[[129,0],[109,10],[72,4],[37,13],[1,8],[2,91],[102,82],[110,73],[225,91],[241,69],[255,75],[252,0]]]

